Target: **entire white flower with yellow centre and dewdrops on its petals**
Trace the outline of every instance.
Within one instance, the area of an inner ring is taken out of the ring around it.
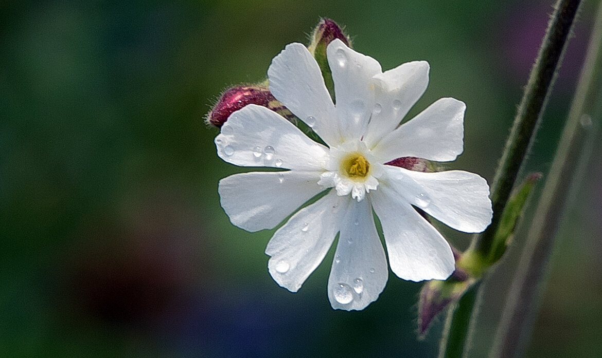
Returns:
[[[455,269],[449,244],[413,207],[464,232],[491,222],[489,187],[465,171],[416,172],[385,163],[398,157],[438,162],[463,150],[465,105],[444,98],[412,120],[402,118],[422,96],[429,64],[415,61],[382,72],[379,63],[340,40],[327,47],[334,105],[320,68],[305,46],[293,43],[268,70],[270,90],[328,147],[308,138],[267,108],[234,112],[215,142],[218,155],[240,166],[288,171],[249,172],[220,180],[221,204],[247,231],[274,228],[297,211],[265,249],[270,274],[299,290],[340,232],[328,279],[333,308],[363,309],[385,287],[385,250],[374,225],[382,223],[391,270],[402,279],[445,279]]]

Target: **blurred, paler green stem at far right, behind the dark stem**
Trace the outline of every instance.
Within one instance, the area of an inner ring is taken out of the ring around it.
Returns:
[[[570,199],[570,193],[573,191],[569,190],[569,186],[579,172],[577,169],[587,159],[588,150],[584,149],[593,143],[591,120],[602,116],[600,39],[602,4],[598,7],[596,24],[568,122],[527,235],[529,241],[521,256],[512,291],[504,306],[491,358],[520,356],[530,336],[541,293],[545,287],[548,259],[566,201]]]

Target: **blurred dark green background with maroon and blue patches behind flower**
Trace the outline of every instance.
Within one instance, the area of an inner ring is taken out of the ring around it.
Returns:
[[[367,309],[334,311],[333,249],[299,293],[278,287],[264,254],[273,231],[238,229],[220,208],[218,180],[245,170],[217,157],[203,115],[330,17],[384,69],[430,62],[411,115],[440,97],[466,102],[465,152],[450,168],[491,181],[552,2],[0,1],[0,356],[435,356],[442,317],[416,335],[421,284],[390,273]],[[550,166],[595,5],[527,171]],[[528,357],[602,356],[598,150]],[[470,239],[444,233],[461,249]],[[491,344],[521,241],[489,282],[471,356]]]

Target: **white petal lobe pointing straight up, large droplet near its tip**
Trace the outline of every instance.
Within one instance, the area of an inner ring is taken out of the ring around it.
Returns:
[[[381,72],[380,64],[338,39],[328,45],[326,53],[335,83],[341,136],[346,140],[359,139],[374,108],[372,77]]]

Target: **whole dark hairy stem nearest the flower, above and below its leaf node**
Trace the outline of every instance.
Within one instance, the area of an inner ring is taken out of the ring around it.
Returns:
[[[541,114],[556,78],[557,69],[560,67],[580,3],[580,0],[558,0],[548,23],[495,175],[492,186],[494,216],[491,225],[482,234],[475,235],[471,243],[471,249],[485,257],[491,250],[495,232],[500,226],[501,214],[535,138]],[[520,184],[520,181],[517,184]],[[470,296],[465,300],[462,300],[464,298],[462,297],[459,305],[456,306],[461,308],[457,315],[455,308],[448,312],[439,358],[461,358],[468,351],[471,341],[468,329],[474,325],[477,316],[480,302],[479,287],[475,287],[469,294]],[[461,305],[462,303],[464,305]]]

